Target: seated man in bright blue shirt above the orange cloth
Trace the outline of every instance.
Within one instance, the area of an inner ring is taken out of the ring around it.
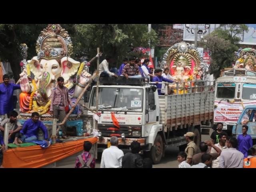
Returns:
[[[39,114],[38,112],[32,113],[32,118],[29,120],[26,120],[25,123],[22,126],[22,130],[20,131],[20,134],[22,135],[20,137],[19,142],[30,142],[30,141],[36,141],[38,140],[38,131],[39,128],[42,129],[44,132],[44,139],[48,141],[48,132],[46,126],[38,120]]]

